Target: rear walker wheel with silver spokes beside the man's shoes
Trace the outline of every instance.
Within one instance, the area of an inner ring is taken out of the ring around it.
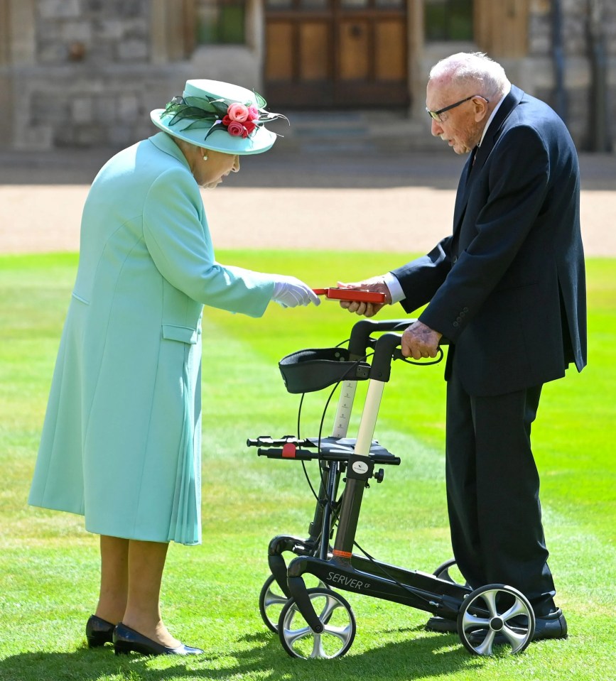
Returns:
[[[473,655],[492,655],[494,645],[522,653],[532,641],[535,616],[526,596],[504,584],[488,584],[465,598],[458,612],[458,634]]]

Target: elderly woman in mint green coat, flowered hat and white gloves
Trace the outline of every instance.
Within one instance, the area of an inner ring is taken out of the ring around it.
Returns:
[[[162,130],[114,156],[85,203],[80,262],[29,503],[100,535],[90,647],[202,653],[171,636],[159,595],[168,543],[201,540],[203,305],[264,314],[318,305],[300,280],[217,263],[199,187],[267,151],[276,118],[248,89],[190,80],[151,112]]]

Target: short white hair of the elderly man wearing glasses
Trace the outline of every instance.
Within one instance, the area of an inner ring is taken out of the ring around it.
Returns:
[[[509,88],[503,67],[482,52],[459,52],[437,62],[428,80],[450,80],[455,85],[471,85],[486,99],[502,97]]]

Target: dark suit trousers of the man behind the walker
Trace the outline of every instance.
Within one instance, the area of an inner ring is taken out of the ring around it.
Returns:
[[[453,555],[473,589],[507,584],[529,599],[537,616],[549,614],[556,592],[531,451],[541,386],[471,396],[453,365],[445,447]]]

